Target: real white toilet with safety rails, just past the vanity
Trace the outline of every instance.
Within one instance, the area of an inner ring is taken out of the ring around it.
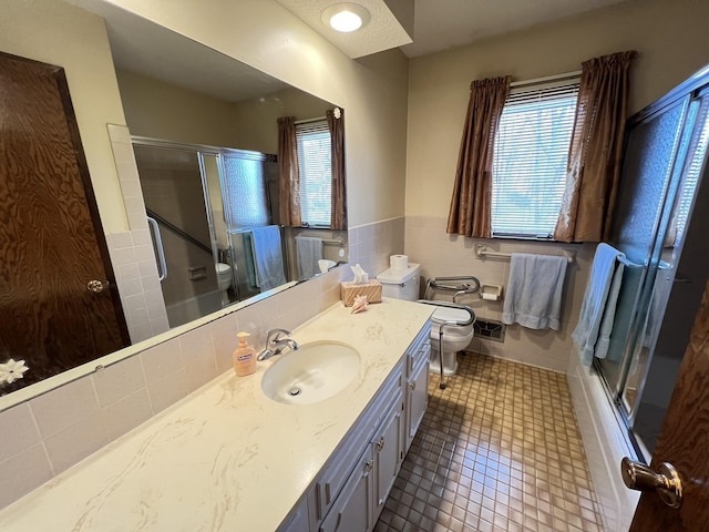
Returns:
[[[419,273],[421,265],[409,263],[407,269],[387,269],[377,276],[381,283],[384,297],[415,301],[419,299]],[[444,304],[445,301],[441,301]],[[441,372],[440,346],[443,347],[443,375],[451,376],[458,371],[458,351],[465,349],[475,330],[475,318],[469,325],[445,325],[446,323],[465,323],[470,314],[461,308],[439,306],[431,317],[431,361],[430,370]],[[442,335],[441,335],[442,331]]]

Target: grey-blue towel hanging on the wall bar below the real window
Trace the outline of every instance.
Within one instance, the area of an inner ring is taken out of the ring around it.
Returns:
[[[567,265],[566,257],[513,253],[502,321],[558,330]]]

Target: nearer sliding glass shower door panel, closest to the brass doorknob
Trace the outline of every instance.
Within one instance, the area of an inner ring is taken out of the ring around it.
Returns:
[[[692,224],[707,225],[708,216],[701,212],[706,208],[692,212],[692,207],[707,158],[709,98],[692,102],[689,122],[692,127],[687,135],[687,156],[678,175],[677,194],[657,243],[660,262],[649,298],[649,311],[620,396],[629,429],[646,458],[655,449],[693,323],[696,304],[692,305],[689,295],[684,293],[703,282],[691,269],[698,269],[701,276],[703,268],[698,263],[707,250],[695,244],[697,238],[689,238],[685,246],[685,237],[691,231],[688,227],[690,217]],[[702,217],[703,223],[700,221]],[[706,235],[701,235],[699,241],[703,243],[705,238]]]

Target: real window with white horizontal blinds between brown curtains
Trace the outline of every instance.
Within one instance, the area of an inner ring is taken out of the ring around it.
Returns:
[[[495,136],[493,237],[552,238],[577,95],[577,78],[510,91]]]

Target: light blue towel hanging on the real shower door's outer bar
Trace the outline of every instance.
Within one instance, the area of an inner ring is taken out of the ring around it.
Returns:
[[[604,358],[615,320],[620,291],[625,255],[608,244],[598,244],[586,283],[578,325],[572,338],[578,346],[582,362],[589,365],[593,357]]]

